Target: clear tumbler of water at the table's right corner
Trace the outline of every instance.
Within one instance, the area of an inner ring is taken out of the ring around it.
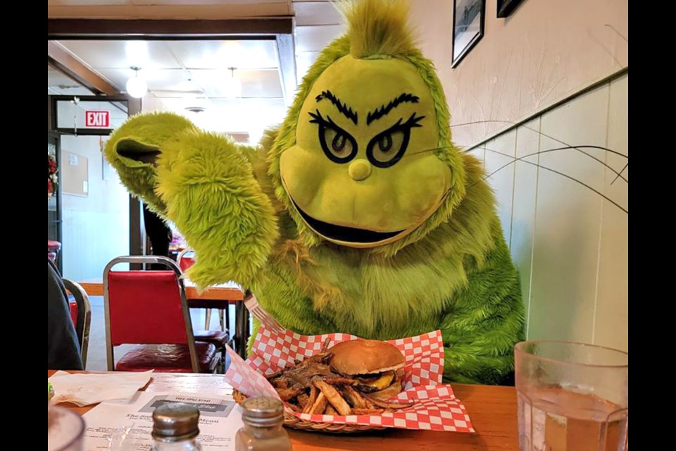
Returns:
[[[520,451],[628,450],[629,354],[556,341],[514,354]]]

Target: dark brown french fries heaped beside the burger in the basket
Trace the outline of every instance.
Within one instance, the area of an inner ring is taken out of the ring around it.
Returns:
[[[296,361],[282,371],[265,376],[275,387],[282,401],[294,412],[370,415],[411,407],[413,403],[386,401],[401,392],[401,383],[396,376],[394,376],[396,383],[374,392],[363,390],[364,378],[344,376],[331,369],[327,364],[332,357],[332,354],[327,352],[328,345],[327,340],[319,354],[302,362]],[[393,376],[383,374],[382,377],[392,380]]]

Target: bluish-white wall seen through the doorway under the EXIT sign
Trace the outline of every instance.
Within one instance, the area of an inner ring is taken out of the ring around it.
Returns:
[[[102,137],[105,138],[105,137]],[[61,154],[88,160],[89,195],[63,193],[63,276],[72,280],[101,278],[114,257],[129,254],[129,195],[115,171],[103,180],[98,136],[61,136]],[[63,168],[68,161],[61,161]]]

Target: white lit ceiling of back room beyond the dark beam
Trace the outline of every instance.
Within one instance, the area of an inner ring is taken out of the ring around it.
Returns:
[[[186,93],[227,97],[224,78],[242,80],[243,98],[283,99],[277,47],[267,41],[58,41],[120,90],[134,76],[148,82],[155,97]]]

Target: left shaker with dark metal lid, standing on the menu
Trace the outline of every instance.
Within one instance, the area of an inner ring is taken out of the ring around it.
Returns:
[[[153,412],[152,451],[201,451],[198,421],[199,409],[192,404],[172,402],[157,407]]]

